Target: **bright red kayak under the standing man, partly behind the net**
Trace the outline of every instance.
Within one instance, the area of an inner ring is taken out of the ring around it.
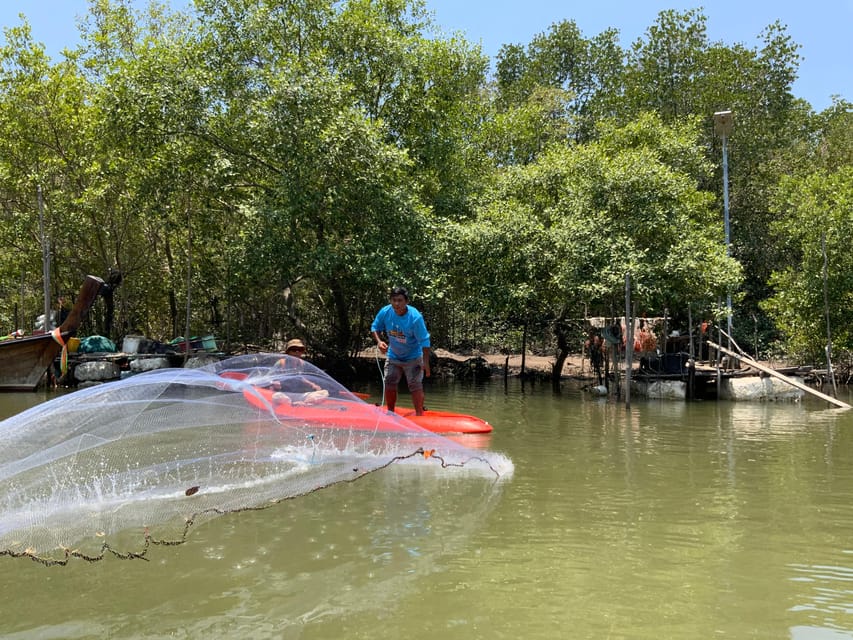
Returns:
[[[304,420],[317,426],[338,429],[356,429],[359,431],[406,431],[406,424],[398,418],[405,418],[433,433],[489,433],[492,425],[485,420],[463,413],[450,411],[430,411],[424,415],[415,415],[414,409],[397,407],[389,414],[383,407],[346,398],[324,397],[316,400],[294,396],[295,401],[283,398],[282,394],[262,387],[247,387],[243,395],[259,409],[273,410],[282,420]]]

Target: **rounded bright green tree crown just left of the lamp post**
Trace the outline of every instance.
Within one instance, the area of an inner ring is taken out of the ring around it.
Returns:
[[[508,168],[477,221],[451,232],[458,286],[495,314],[556,319],[566,309],[609,312],[626,273],[648,309],[712,300],[737,285],[739,268],[709,224],[713,198],[688,173],[709,169],[696,136],[646,115]]]

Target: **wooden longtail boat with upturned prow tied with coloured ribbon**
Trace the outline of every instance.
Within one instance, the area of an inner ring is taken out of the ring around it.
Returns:
[[[104,281],[86,276],[68,317],[53,332],[0,341],[0,391],[34,391],[42,376],[74,336]]]

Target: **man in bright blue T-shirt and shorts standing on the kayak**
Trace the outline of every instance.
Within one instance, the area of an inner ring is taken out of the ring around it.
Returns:
[[[391,304],[379,310],[370,331],[376,346],[384,353],[385,404],[388,411],[397,405],[397,384],[403,374],[412,394],[415,413],[424,414],[423,378],[429,377],[429,332],[421,312],[409,306],[409,293],[403,287],[391,289]],[[388,342],[382,339],[385,333]]]

